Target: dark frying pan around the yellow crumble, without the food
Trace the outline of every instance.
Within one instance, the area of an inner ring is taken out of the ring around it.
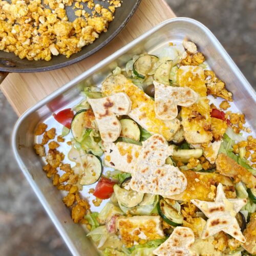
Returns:
[[[4,80],[9,72],[31,73],[49,71],[71,65],[95,53],[103,46],[108,44],[124,28],[126,23],[130,20],[130,18],[136,11],[141,0],[123,0],[122,2],[123,3],[121,7],[117,8],[115,11],[115,18],[113,22],[109,24],[108,31],[105,33],[101,33],[99,35],[99,38],[96,39],[93,44],[84,46],[80,52],[71,55],[70,58],[66,58],[66,56],[64,55],[58,55],[52,56],[52,59],[50,61],[28,60],[27,58],[20,59],[14,53],[0,51],[0,83]],[[66,13],[71,22],[73,22],[73,20],[77,18],[74,15],[74,10],[72,9],[74,3],[72,6],[66,7]],[[102,0],[94,0],[94,3],[101,4],[103,7],[109,6],[107,1],[103,2]],[[83,4],[84,10],[91,12],[91,10],[87,8],[87,3],[81,2],[79,4]]]

